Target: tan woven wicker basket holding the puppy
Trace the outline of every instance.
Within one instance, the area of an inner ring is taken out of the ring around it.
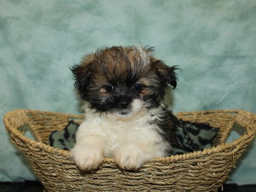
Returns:
[[[12,140],[30,161],[45,189],[50,191],[217,191],[227,179],[236,160],[253,140],[256,114],[248,111],[215,110],[178,113],[178,118],[209,122],[220,127],[216,147],[193,153],[158,157],[140,170],[123,171],[113,159],[105,158],[99,170],[80,172],[70,162],[68,151],[46,145],[49,134],[62,130],[70,119],[82,116],[33,110],[10,111],[4,123]],[[18,130],[28,124],[38,141],[23,136]],[[224,143],[234,124],[246,129],[232,143]]]

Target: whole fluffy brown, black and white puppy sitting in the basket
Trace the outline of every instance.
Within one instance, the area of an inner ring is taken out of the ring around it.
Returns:
[[[154,58],[152,48],[111,47],[86,55],[71,68],[84,100],[85,119],[71,157],[81,170],[113,157],[122,169],[138,169],[169,154],[177,119],[163,104],[176,87],[176,66]]]

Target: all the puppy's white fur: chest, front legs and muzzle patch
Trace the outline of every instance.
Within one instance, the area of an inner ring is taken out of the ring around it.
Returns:
[[[137,169],[153,157],[165,156],[169,143],[161,137],[161,129],[150,124],[161,118],[162,108],[146,110],[140,99],[134,99],[129,115],[100,114],[85,107],[71,157],[80,169],[90,170],[103,157],[113,157],[122,169]]]

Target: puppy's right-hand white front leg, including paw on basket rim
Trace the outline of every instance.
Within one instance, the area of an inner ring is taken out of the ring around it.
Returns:
[[[128,143],[117,148],[113,158],[122,169],[138,169],[154,157],[152,151],[154,151],[153,148],[145,147],[141,143]]]

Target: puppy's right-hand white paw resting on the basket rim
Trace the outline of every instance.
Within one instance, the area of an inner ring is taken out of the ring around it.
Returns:
[[[118,164],[122,169],[128,170],[140,168],[140,166],[149,159],[150,157],[145,154],[145,151],[138,148],[136,145],[123,147],[114,155],[116,164]]]

